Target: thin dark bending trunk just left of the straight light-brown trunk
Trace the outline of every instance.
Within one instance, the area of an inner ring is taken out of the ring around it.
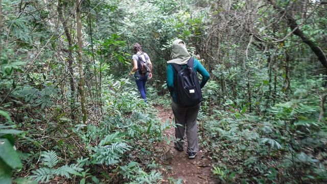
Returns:
[[[73,47],[73,41],[72,41],[72,36],[71,36],[71,32],[69,31],[69,28],[68,28],[68,22],[67,22],[67,18],[63,16],[63,2],[62,0],[59,0],[58,2],[58,14],[59,14],[59,19],[60,21],[62,22],[62,26],[63,26],[63,29],[64,29],[64,32],[65,32],[65,35],[66,35],[66,38],[67,38],[67,41],[68,41],[68,48],[65,50],[68,54],[68,58],[67,58],[67,61],[68,61],[68,71],[69,71],[69,83],[71,85],[71,118],[72,119],[75,119],[75,116],[74,116],[74,109],[75,109],[75,85],[74,85],[74,72],[73,72],[73,50],[72,50],[72,47]],[[66,8],[66,7],[65,7]]]

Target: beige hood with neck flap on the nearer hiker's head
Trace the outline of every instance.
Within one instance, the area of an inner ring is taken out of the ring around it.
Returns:
[[[171,57],[172,60],[167,61],[167,63],[176,63],[179,65],[185,65],[188,63],[191,55],[189,54],[188,49],[186,49],[186,45],[183,40],[177,39],[173,41],[173,51]]]

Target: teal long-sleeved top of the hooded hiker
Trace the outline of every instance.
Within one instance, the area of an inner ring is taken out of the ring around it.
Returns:
[[[185,68],[186,65],[183,65]],[[202,75],[202,81],[200,83],[200,87],[203,88],[205,83],[209,80],[210,74],[206,69],[203,67],[203,65],[194,58],[194,64],[193,64],[193,70],[195,73],[199,72]],[[176,70],[174,69],[174,66],[172,64],[168,64],[167,66],[167,87],[170,91],[170,95],[172,96],[174,102],[177,102],[176,95],[174,92],[174,78],[177,75]]]

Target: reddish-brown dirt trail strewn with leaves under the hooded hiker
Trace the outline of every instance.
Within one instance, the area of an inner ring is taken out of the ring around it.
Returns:
[[[166,123],[167,119],[173,121],[172,110],[167,110],[161,106],[155,106],[158,110],[158,117],[162,120],[162,123]],[[175,137],[175,128],[171,127],[164,132],[164,136],[171,140]],[[187,141],[187,140],[185,140]],[[191,160],[186,154],[185,143],[184,151],[177,151],[174,149],[174,142],[171,141],[167,144],[163,141],[158,145],[156,150],[162,150],[164,153],[158,158],[158,163],[163,167],[160,169],[164,180],[162,183],[170,183],[169,178],[182,179],[183,183],[187,184],[203,184],[203,183],[217,183],[217,180],[212,174],[212,162],[211,157],[206,150],[200,147],[195,159]]]

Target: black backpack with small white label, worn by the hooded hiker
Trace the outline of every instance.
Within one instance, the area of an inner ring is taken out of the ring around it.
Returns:
[[[186,64],[186,68],[182,65],[172,63],[177,71],[174,78],[174,90],[176,94],[177,104],[180,107],[190,107],[203,101],[199,78],[192,69],[194,58],[191,57]]]

